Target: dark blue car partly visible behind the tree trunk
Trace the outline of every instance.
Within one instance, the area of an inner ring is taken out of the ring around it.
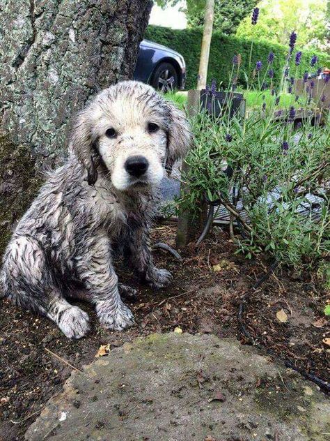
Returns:
[[[143,40],[140,44],[134,80],[163,92],[184,89],[186,63],[184,58],[169,47]]]

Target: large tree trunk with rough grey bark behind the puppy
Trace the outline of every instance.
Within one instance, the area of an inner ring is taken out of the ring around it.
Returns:
[[[150,0],[0,0],[0,237],[45,165],[65,158],[72,114],[132,77]]]

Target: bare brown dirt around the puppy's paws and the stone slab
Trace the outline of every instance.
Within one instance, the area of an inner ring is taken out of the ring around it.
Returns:
[[[152,241],[173,246],[175,227],[155,227]],[[118,264],[120,281],[139,287],[139,298],[134,303],[126,300],[136,319],[136,326],[127,331],[102,329],[91,306],[81,304],[91,317],[91,333],[80,341],[70,341],[45,317],[19,310],[8,300],[1,301],[1,441],[22,440],[27,426],[70,375],[72,368],[66,363],[76,368],[88,364],[102,344],[116,347],[136,336],[171,331],[177,326],[192,334],[237,336],[242,343],[248,343],[237,322],[237,310],[246,292],[249,297],[243,320],[256,343],[289,359],[298,368],[329,380],[327,346],[322,343],[330,336],[329,322],[322,313],[329,294],[327,297],[311,280],[281,269],[253,292],[251,287],[265,274],[270,262],[247,261],[235,255],[233,242],[219,231],[201,246],[191,244],[182,251],[183,262],[165,251],[154,254],[157,265],[166,267],[174,276],[171,287],[161,291],[139,285],[123,264]],[[219,271],[215,272],[213,266],[217,264]],[[276,318],[282,308],[288,315],[285,323]]]

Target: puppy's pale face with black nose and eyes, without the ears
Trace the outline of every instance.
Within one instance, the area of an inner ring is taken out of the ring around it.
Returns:
[[[146,99],[153,105],[146,105]],[[157,186],[166,164],[168,108],[156,94],[141,93],[105,98],[105,105],[97,122],[97,149],[113,186]]]

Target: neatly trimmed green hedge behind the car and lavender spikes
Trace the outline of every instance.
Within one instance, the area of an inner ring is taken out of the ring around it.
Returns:
[[[149,26],[146,29],[145,34],[145,38],[148,40],[171,47],[182,54],[187,63],[186,89],[194,89],[196,87],[202,36],[203,30],[201,29],[170,29],[160,26]],[[233,67],[233,56],[234,54],[241,54],[242,65],[239,69],[238,83],[245,87],[246,81],[244,73],[247,73],[249,70],[250,50],[251,40],[234,36],[225,36],[219,31],[214,31],[210,49],[207,82],[210,83],[214,78],[214,80],[217,81],[218,87],[220,83],[222,83],[220,86],[221,89],[227,87],[230,72]],[[282,69],[288,54],[288,47],[267,42],[253,42],[251,70],[256,66],[256,62],[261,60],[263,67],[260,73],[260,78],[262,80],[265,75],[269,52],[274,52],[275,54],[272,68],[274,69],[274,84],[278,85],[281,80]],[[329,66],[329,55],[303,51],[301,64],[297,68],[297,75],[294,60],[292,60],[290,76],[302,77],[306,70],[308,72],[315,72],[317,66],[311,68],[310,64],[313,54],[316,54],[319,59],[318,66]],[[292,58],[294,59],[294,56]],[[269,78],[267,78],[265,82],[269,82]]]

